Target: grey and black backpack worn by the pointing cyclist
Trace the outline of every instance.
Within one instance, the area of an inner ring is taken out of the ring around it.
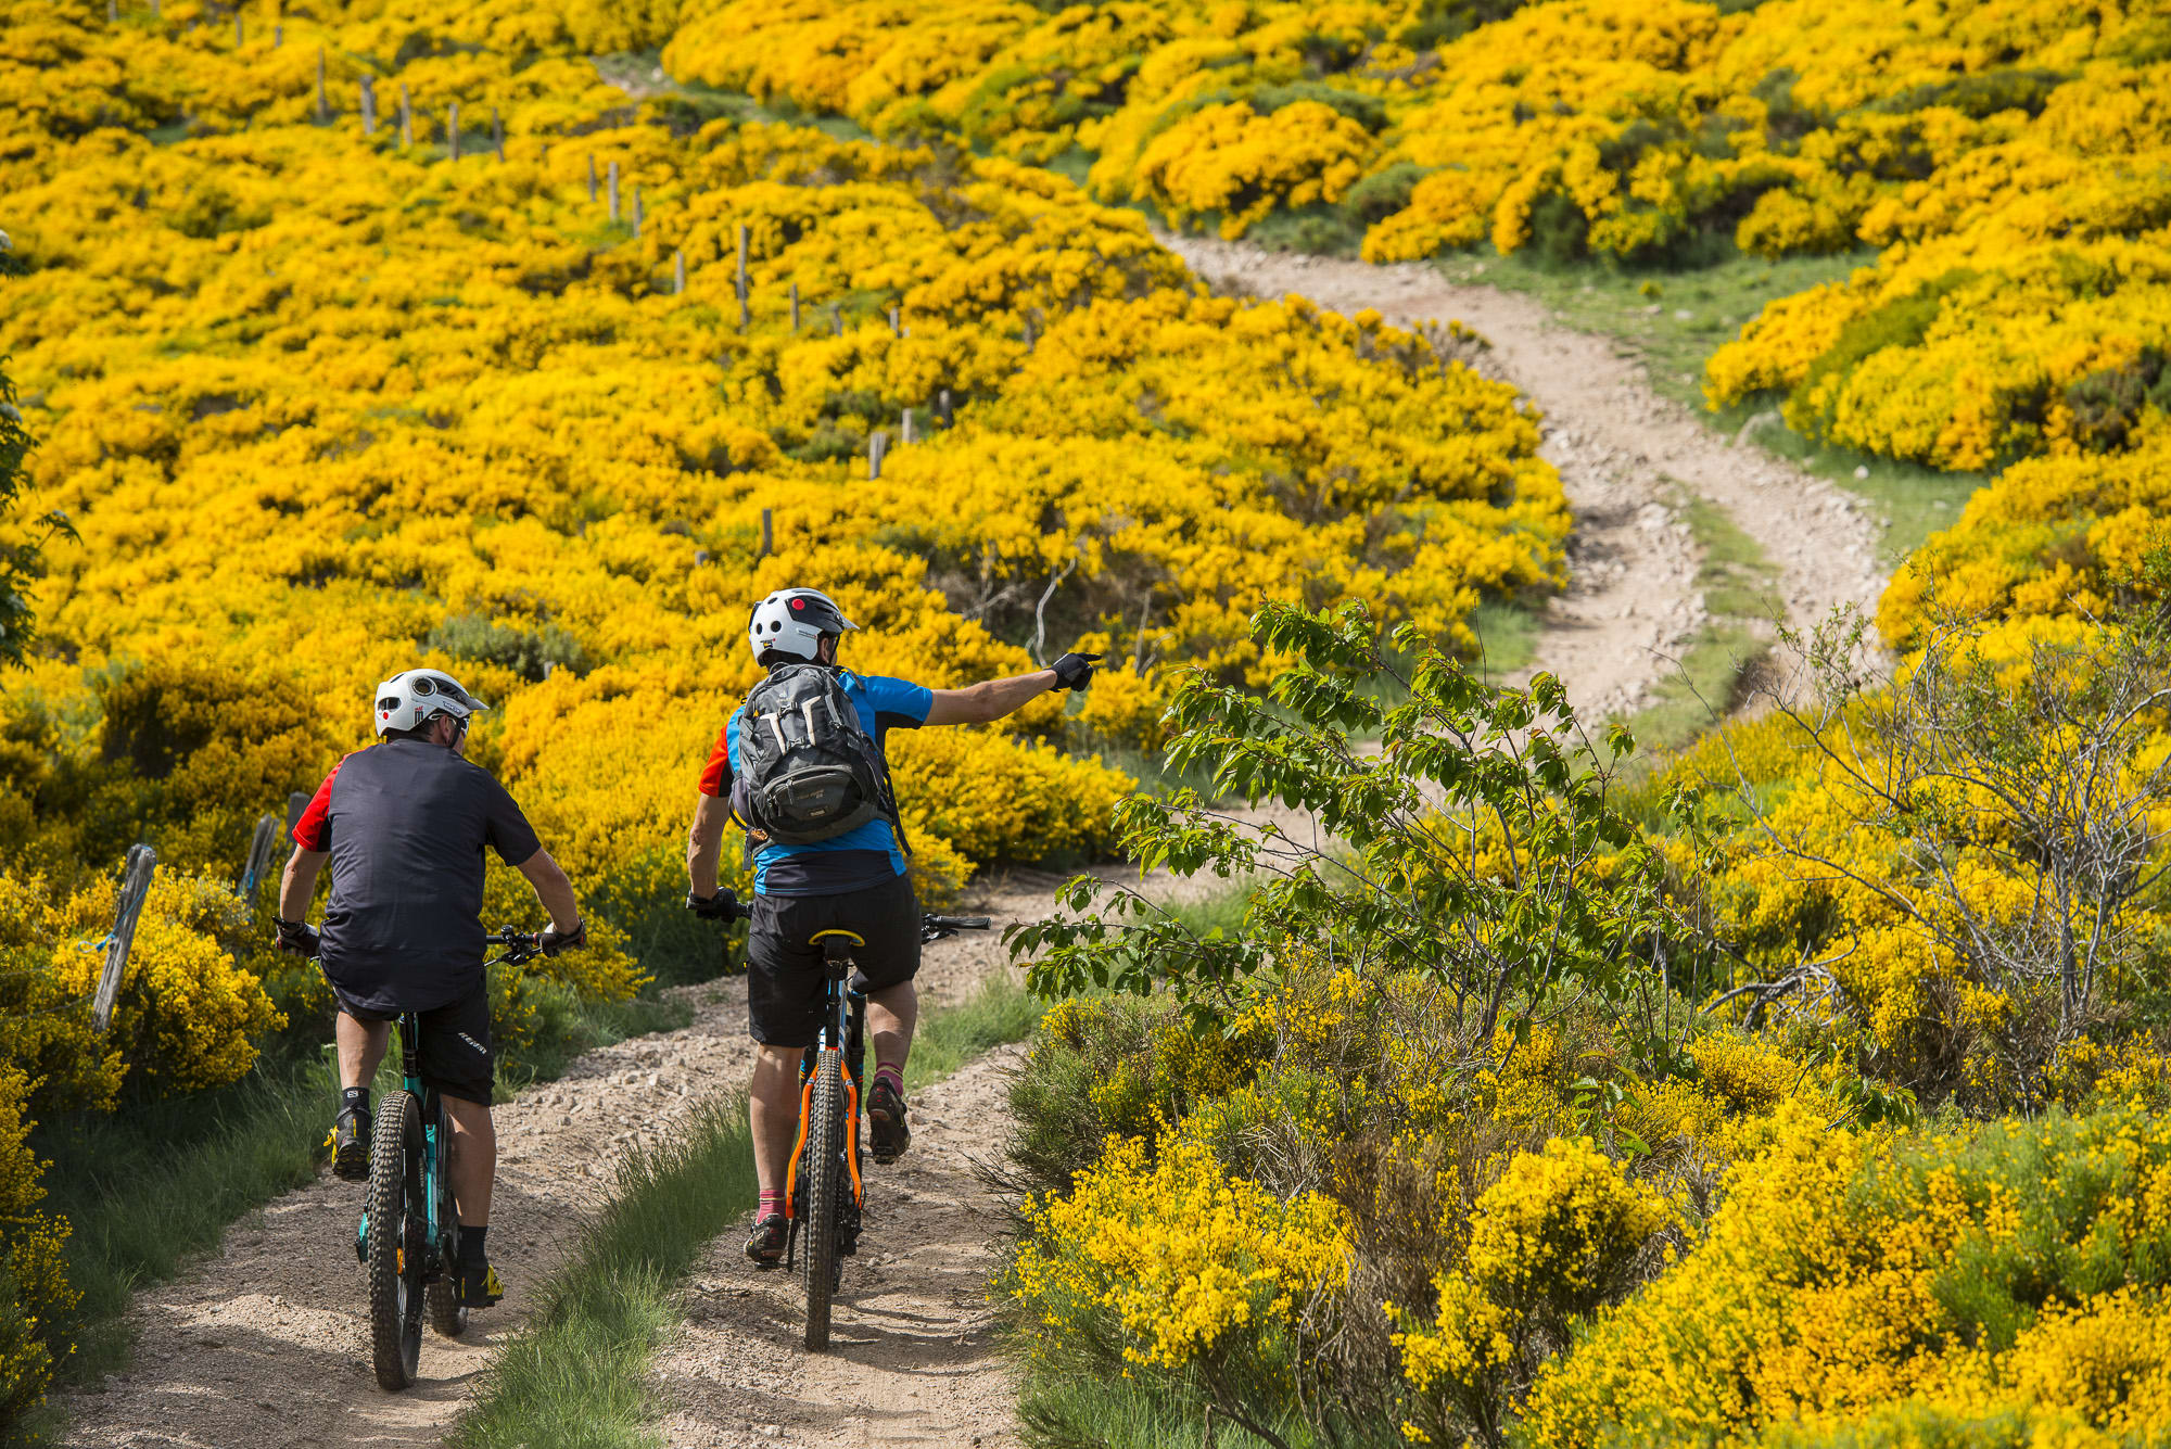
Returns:
[[[825,664],[782,664],[747,694],[738,783],[747,824],[784,846],[812,846],[875,818],[899,826],[881,751]]]

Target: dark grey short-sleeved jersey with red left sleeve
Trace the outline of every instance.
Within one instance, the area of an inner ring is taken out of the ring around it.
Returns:
[[[543,842],[482,766],[386,740],[341,759],[293,826],[332,852],[323,974],[367,1011],[434,1011],[482,978],[482,848],[521,865]]]

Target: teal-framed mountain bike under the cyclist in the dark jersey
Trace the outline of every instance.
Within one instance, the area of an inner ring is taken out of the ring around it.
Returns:
[[[541,939],[523,931],[484,937],[504,946],[488,965],[519,965],[536,957]],[[378,1106],[369,1145],[369,1195],[354,1234],[354,1256],[369,1278],[369,1349],[378,1384],[412,1388],[421,1362],[421,1321],[458,1338],[467,1332],[460,1306],[460,1215],[452,1204],[447,1156],[452,1130],[445,1102],[421,1082],[421,1020],[399,1015],[399,1089]]]

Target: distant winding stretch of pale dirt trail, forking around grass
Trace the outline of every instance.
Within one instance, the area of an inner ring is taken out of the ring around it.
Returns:
[[[1537,302],[1455,286],[1422,262],[1261,252],[1244,243],[1161,236],[1209,282],[1333,312],[1372,308],[1396,325],[1461,321],[1489,345],[1481,367],[1513,382],[1546,414],[1541,453],[1561,469],[1576,531],[1570,586],[1546,612],[1537,668],[1585,711],[1628,711],[1704,623],[1698,547],[1667,503],[1674,484],[1724,508],[1778,570],[1787,623],[1839,605],[1874,610],[1884,592],[1876,529],[1863,503],[1774,458],[1730,445],[1656,393],[1641,367],[1602,336],[1554,321]]]

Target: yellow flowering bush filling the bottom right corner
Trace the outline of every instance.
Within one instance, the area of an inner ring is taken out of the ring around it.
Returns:
[[[2167,1163],[2141,1108],[1921,1143],[1795,1117],[1704,1241],[1546,1367],[1524,1427],[1728,1445],[1921,1401],[2160,1436]]]

